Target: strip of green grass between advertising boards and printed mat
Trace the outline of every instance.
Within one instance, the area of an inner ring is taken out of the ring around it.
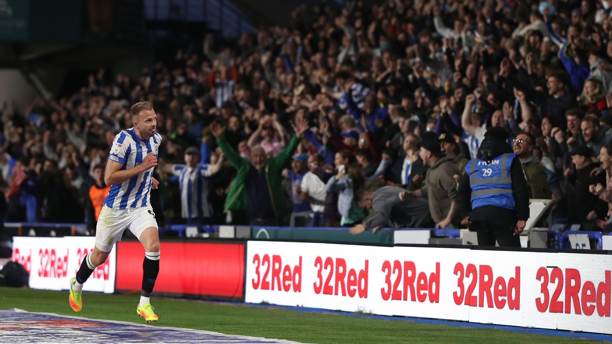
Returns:
[[[524,334],[497,329],[417,324],[355,316],[297,312],[247,305],[157,299],[159,326],[224,334],[295,340],[303,343],[598,343],[594,340]],[[144,323],[136,315],[138,296],[83,293],[83,310],[73,312],[68,293],[0,288],[0,309],[21,308],[85,318]],[[1,337],[1,334],[0,334]]]

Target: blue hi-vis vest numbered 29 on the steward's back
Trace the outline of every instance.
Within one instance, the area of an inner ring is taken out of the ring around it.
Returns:
[[[482,206],[515,209],[510,166],[516,156],[514,153],[502,154],[489,163],[476,158],[469,160],[465,172],[472,189],[472,209]]]

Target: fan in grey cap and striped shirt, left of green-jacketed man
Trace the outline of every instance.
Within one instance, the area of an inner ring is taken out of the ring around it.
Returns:
[[[195,147],[185,150],[185,165],[167,164],[162,166],[166,173],[173,173],[179,179],[181,190],[181,217],[188,225],[206,225],[212,217],[212,206],[209,202],[211,185],[209,178],[217,173],[223,165],[223,154],[217,163],[209,165],[204,162],[204,151],[207,144],[202,144],[202,152]]]

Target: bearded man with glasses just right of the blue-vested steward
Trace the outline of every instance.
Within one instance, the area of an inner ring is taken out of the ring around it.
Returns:
[[[534,154],[535,138],[530,133],[522,132],[512,140],[512,148],[523,165],[523,171],[529,186],[529,198],[551,199],[550,188],[546,179],[544,166]]]

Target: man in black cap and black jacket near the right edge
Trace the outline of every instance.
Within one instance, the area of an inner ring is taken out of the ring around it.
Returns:
[[[569,223],[581,223],[594,227],[595,220],[605,219],[608,212],[608,204],[600,200],[597,195],[589,192],[589,185],[600,183],[605,184],[605,173],[600,173],[597,176],[591,176],[591,171],[599,167],[599,162],[593,162],[591,159],[592,152],[583,144],[577,146],[570,151],[572,155],[572,163],[575,166],[573,173],[567,181],[567,209]],[[585,228],[586,229],[586,228]],[[588,230],[593,230],[588,229]]]

